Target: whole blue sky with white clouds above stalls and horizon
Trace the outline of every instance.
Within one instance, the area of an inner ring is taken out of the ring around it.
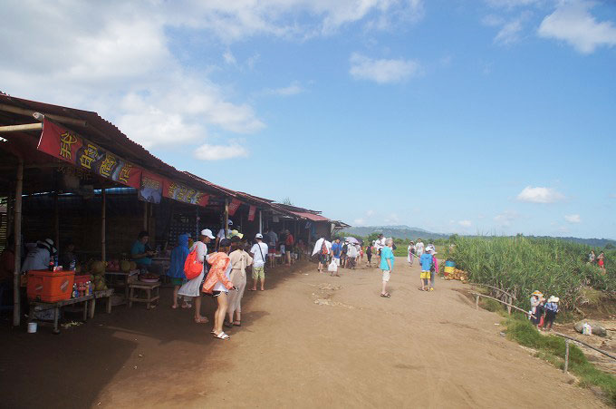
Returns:
[[[616,239],[611,1],[9,1],[0,15],[0,90],[99,112],[231,189],[353,225]]]

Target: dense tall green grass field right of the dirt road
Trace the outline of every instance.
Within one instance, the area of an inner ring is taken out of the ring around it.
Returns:
[[[504,289],[516,304],[529,307],[534,290],[561,298],[565,309],[577,307],[582,287],[616,291],[616,271],[607,275],[586,260],[590,247],[559,239],[490,237],[456,239],[448,258],[467,271],[471,281]],[[610,261],[610,260],[608,260]]]

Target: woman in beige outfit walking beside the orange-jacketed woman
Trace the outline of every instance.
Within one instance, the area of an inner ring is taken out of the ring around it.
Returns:
[[[246,287],[246,268],[253,264],[253,258],[245,251],[245,239],[234,237],[231,239],[231,253],[229,260],[231,262],[231,282],[237,291],[229,293],[229,306],[226,314],[228,322],[226,326],[241,326],[242,325],[242,297]],[[234,316],[235,315],[235,316]]]

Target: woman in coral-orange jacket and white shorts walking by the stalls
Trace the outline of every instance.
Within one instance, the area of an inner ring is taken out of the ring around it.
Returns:
[[[217,253],[210,254],[207,263],[212,267],[207,273],[206,282],[203,283],[203,292],[217,298],[218,307],[214,313],[214,328],[212,334],[218,339],[229,339],[223,331],[226,308],[228,307],[228,292],[230,289],[237,290],[229,279],[231,274],[231,260],[228,256],[231,248],[231,240],[222,239],[218,242]]]

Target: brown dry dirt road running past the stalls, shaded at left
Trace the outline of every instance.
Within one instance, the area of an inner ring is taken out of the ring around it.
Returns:
[[[53,336],[0,328],[3,407],[602,407],[589,390],[500,335],[438,279],[396,259],[390,298],[380,270],[319,274],[277,267],[246,292],[229,341],[191,311],[115,307]],[[214,301],[204,299],[211,317]]]

